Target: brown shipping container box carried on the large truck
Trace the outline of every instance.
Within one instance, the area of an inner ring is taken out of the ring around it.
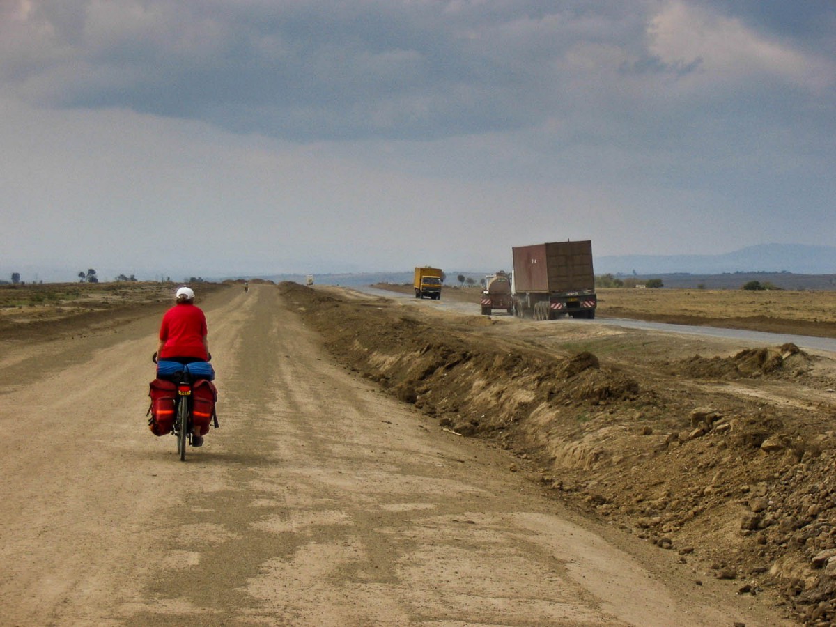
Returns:
[[[513,247],[514,288],[524,292],[594,290],[592,242],[551,242]]]

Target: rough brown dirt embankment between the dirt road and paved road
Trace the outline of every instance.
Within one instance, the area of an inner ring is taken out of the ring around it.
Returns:
[[[803,622],[836,619],[831,359],[279,288],[349,369],[514,451],[554,497]]]

